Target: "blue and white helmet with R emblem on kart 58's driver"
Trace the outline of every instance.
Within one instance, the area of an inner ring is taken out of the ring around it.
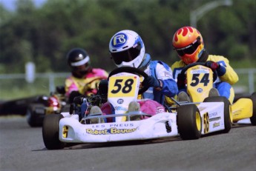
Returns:
[[[145,55],[145,46],[136,32],[122,30],[111,38],[109,52],[117,67],[138,68]]]

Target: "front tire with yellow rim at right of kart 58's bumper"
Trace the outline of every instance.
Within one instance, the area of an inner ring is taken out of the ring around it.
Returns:
[[[198,139],[202,133],[202,119],[195,104],[177,108],[177,127],[183,140]]]

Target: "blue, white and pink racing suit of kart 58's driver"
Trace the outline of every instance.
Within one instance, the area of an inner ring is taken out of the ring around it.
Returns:
[[[148,54],[145,55],[150,58]],[[160,90],[157,90],[154,87],[149,87],[145,93],[138,96],[140,110],[143,113],[148,113],[151,115],[163,113],[163,111],[165,111],[165,108],[163,107],[165,95],[168,97],[173,97],[178,92],[177,83],[172,78],[173,76],[171,68],[163,61],[150,61],[148,66],[145,67],[144,72],[148,74],[148,76],[157,78],[163,84],[161,84]],[[108,104],[108,102],[102,105],[101,110],[102,113],[105,114],[114,113],[113,107],[111,104]]]

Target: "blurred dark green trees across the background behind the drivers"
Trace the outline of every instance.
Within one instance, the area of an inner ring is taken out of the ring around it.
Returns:
[[[113,70],[108,43],[125,29],[142,36],[153,59],[171,64],[179,59],[171,46],[174,32],[209,1],[50,0],[36,8],[32,0],[19,0],[14,12],[0,5],[0,72],[24,72],[27,61],[36,63],[36,72],[68,72],[65,56],[73,47],[85,48],[94,67]],[[254,67],[255,7],[255,0],[233,0],[203,16],[197,29],[209,52]]]

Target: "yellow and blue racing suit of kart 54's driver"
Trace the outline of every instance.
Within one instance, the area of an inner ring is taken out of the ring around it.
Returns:
[[[220,68],[217,69],[217,79],[214,81],[214,87],[217,88],[220,96],[228,98],[232,104],[234,101],[234,89],[232,88],[232,84],[235,84],[238,81],[237,73],[235,73],[233,68],[229,65],[229,60],[224,56],[209,55],[204,51],[197,62],[206,61],[214,61],[220,64]],[[181,70],[183,70],[183,67],[186,67],[186,64],[182,60],[176,61],[171,65],[171,69],[174,71],[174,79],[177,79],[177,76]],[[179,90],[179,92],[180,91],[186,90]]]

